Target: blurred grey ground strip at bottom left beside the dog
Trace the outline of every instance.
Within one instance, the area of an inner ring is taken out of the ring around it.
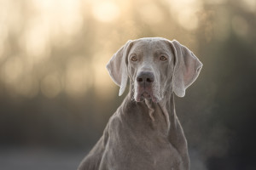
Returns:
[[[9,148],[0,153],[0,166],[4,170],[70,170],[76,169],[84,153],[49,150],[49,148]]]

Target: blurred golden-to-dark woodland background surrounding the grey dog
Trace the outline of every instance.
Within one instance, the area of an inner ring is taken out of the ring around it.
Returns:
[[[76,169],[125,97],[105,65],[140,37],[204,64],[176,99],[191,169],[256,169],[255,0],[0,0],[0,168]]]

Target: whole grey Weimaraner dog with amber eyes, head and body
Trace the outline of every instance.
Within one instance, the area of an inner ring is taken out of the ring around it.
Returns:
[[[183,97],[201,67],[195,54],[175,40],[126,42],[107,68],[119,95],[129,78],[129,94],[79,170],[188,170],[188,145],[174,93]]]

